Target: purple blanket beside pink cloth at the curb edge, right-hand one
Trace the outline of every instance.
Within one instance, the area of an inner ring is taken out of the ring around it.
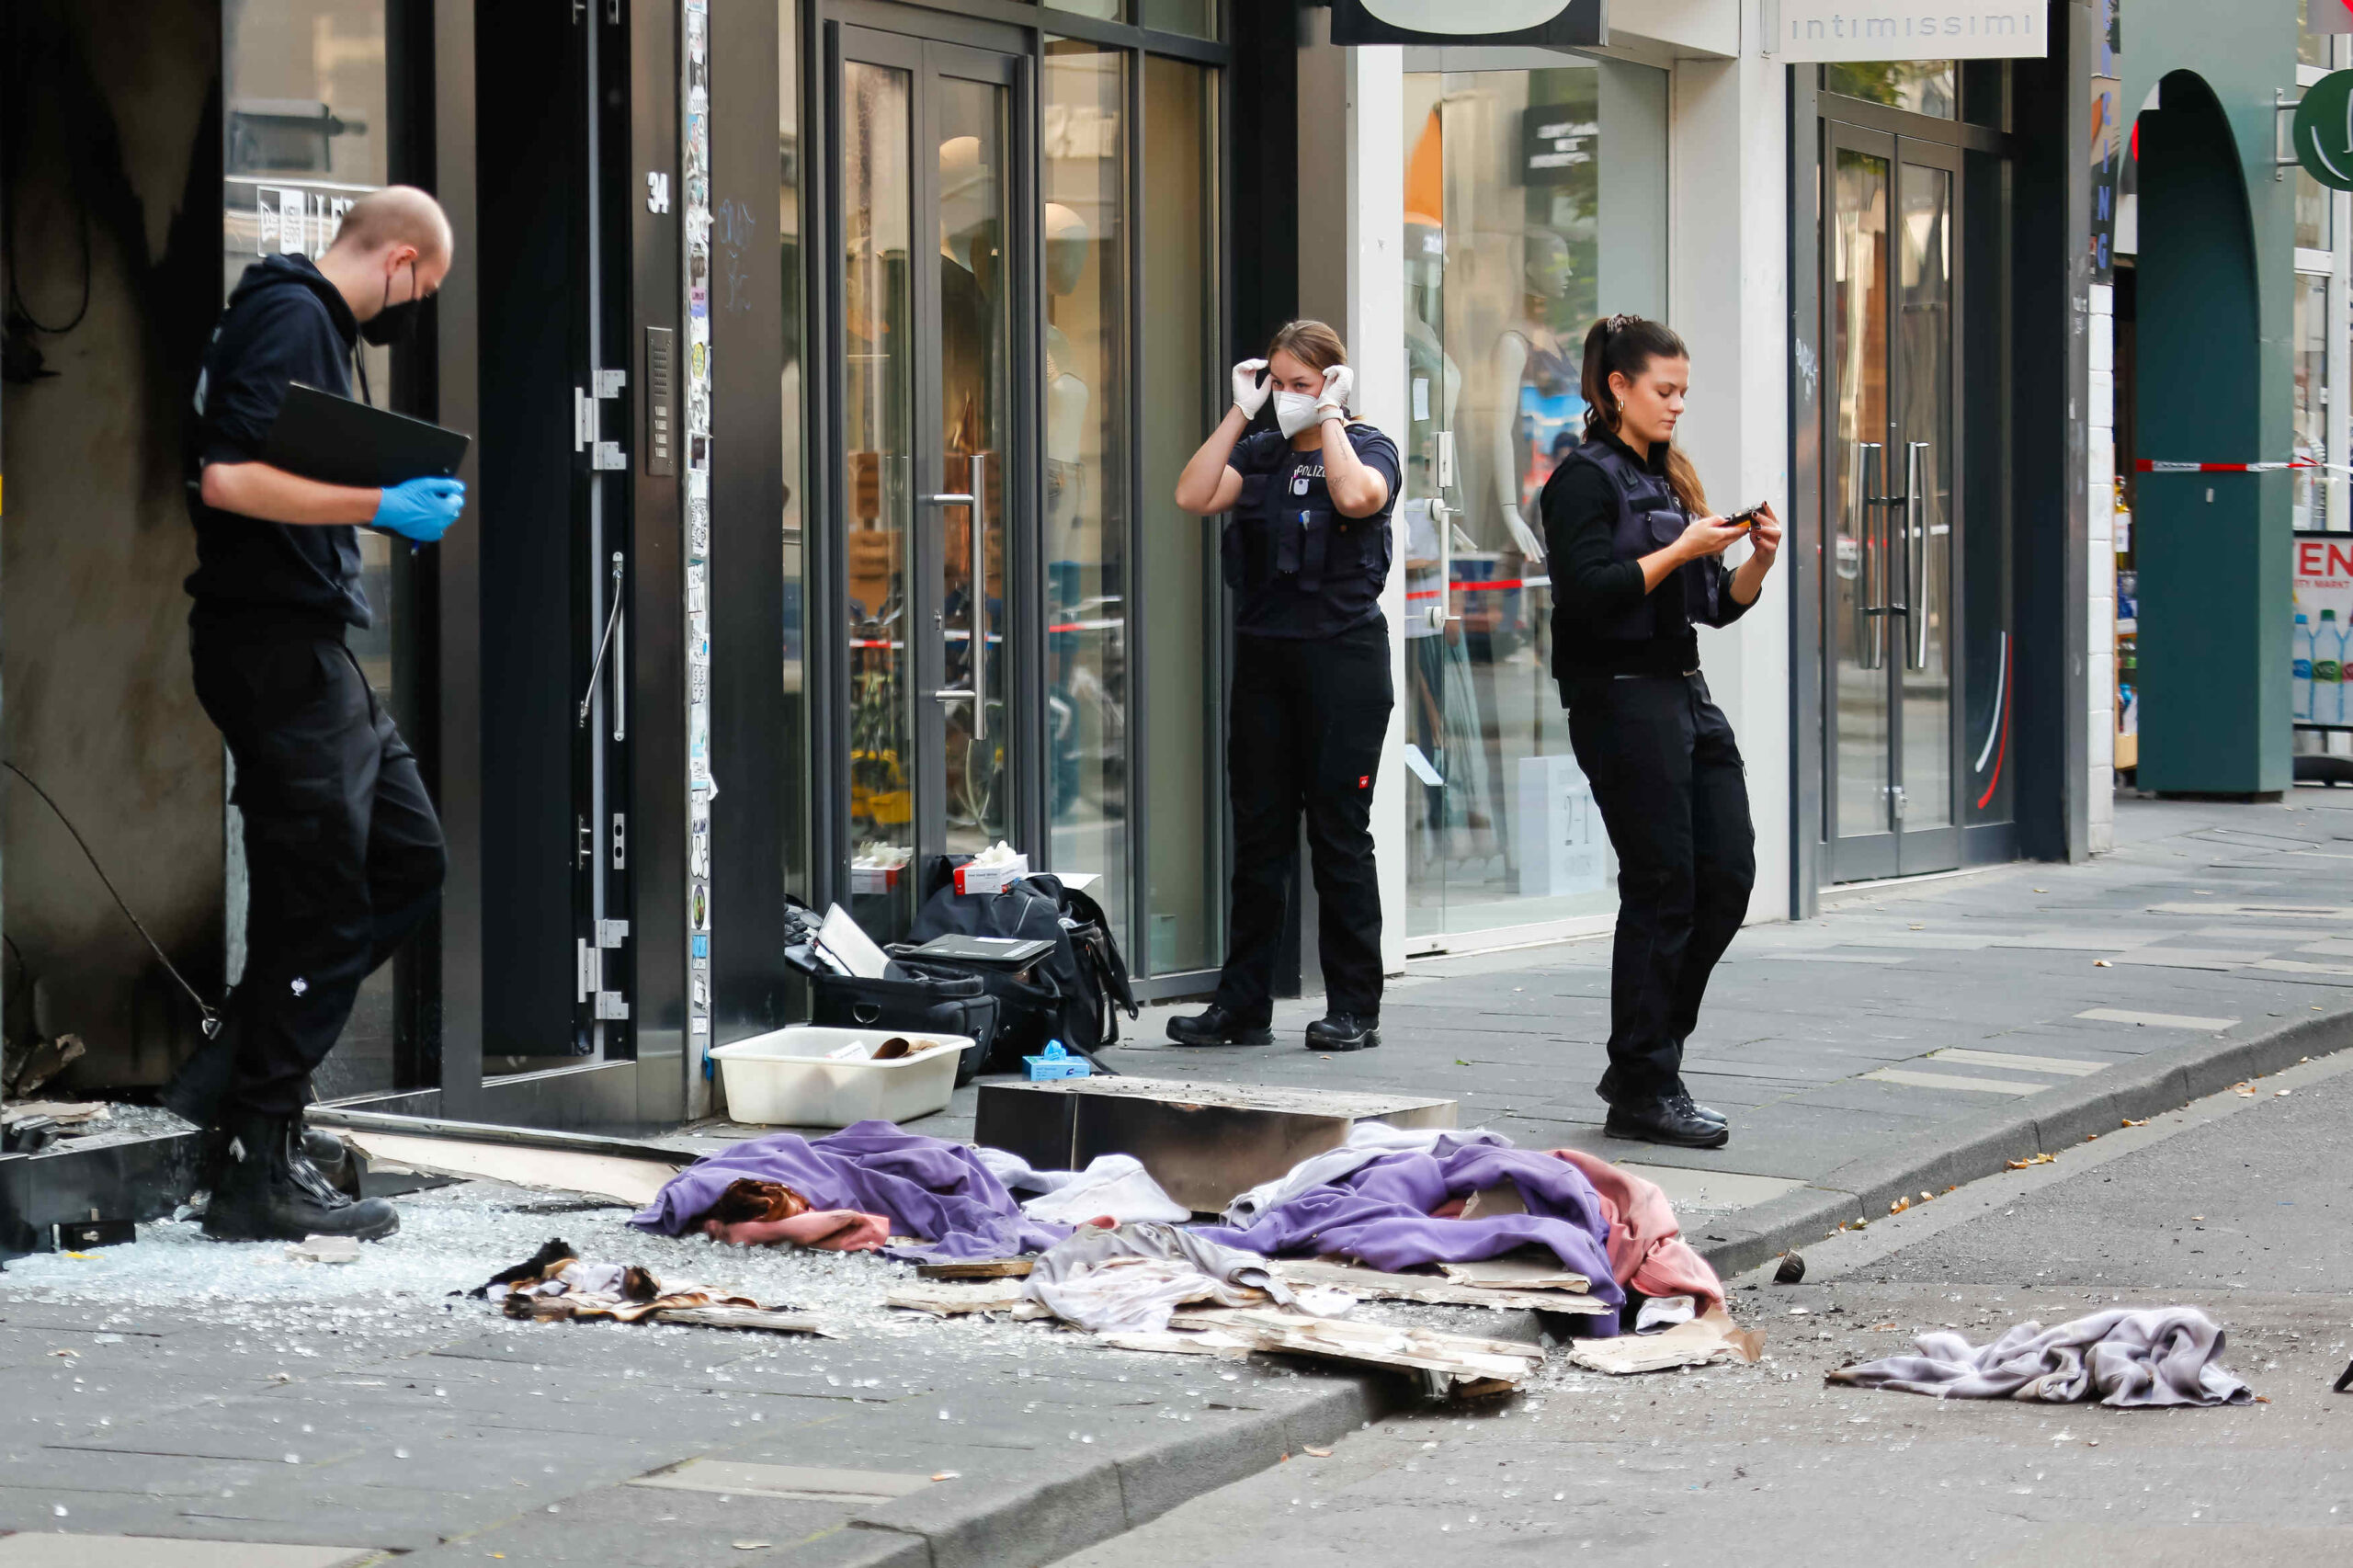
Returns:
[[[1431,1220],[1449,1198],[1513,1182],[1525,1215]],[[1478,1262],[1522,1245],[1544,1245],[1593,1281],[1593,1300],[1626,1304],[1609,1271],[1609,1222],[1584,1172],[1529,1149],[1475,1144],[1445,1156],[1386,1154],[1360,1170],[1275,1203],[1247,1229],[1202,1229],[1209,1241],[1264,1257],[1341,1255],[1374,1269],[1431,1262]],[[1593,1318],[1595,1330],[1617,1318]]]

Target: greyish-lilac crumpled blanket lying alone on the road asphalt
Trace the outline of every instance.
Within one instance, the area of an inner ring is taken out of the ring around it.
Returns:
[[[2245,1406],[2254,1391],[2214,1366],[2224,1335],[2195,1307],[2094,1311],[2042,1328],[2019,1323],[1993,1344],[1955,1333],[1913,1340],[1918,1356],[1842,1366],[1828,1375],[1859,1389],[1937,1398],[2035,1398],[2054,1406]]]

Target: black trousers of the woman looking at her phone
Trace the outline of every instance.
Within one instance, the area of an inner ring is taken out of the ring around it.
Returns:
[[[1569,746],[1619,859],[1609,1067],[1621,1099],[1682,1092],[1682,1041],[1748,913],[1755,824],[1732,725],[1689,676],[1562,683]]]

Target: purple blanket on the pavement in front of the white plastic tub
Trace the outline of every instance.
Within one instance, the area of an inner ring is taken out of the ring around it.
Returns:
[[[666,1236],[692,1231],[720,1194],[746,1177],[784,1182],[814,1208],[889,1215],[894,1234],[932,1243],[894,1255],[1019,1257],[1071,1234],[1068,1224],[1024,1217],[965,1144],[901,1132],[887,1121],[861,1121],[816,1142],[772,1132],[720,1149],[671,1177],[631,1224]]]

